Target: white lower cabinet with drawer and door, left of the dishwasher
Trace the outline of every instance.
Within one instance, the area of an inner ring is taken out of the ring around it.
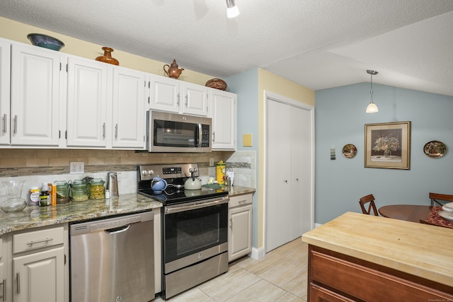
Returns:
[[[0,251],[4,254],[0,255],[0,301],[69,301],[67,230],[64,224],[17,231],[0,238]],[[4,294],[5,299],[1,297]]]

